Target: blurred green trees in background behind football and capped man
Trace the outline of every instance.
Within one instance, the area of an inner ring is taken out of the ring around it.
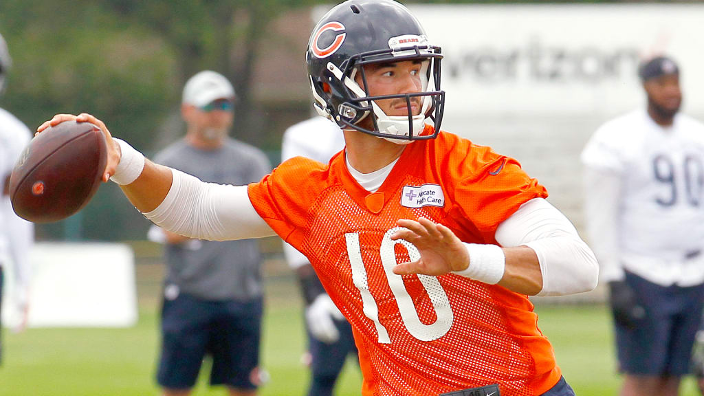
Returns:
[[[166,125],[172,125],[169,116],[178,112],[184,81],[208,68],[227,75],[237,87],[241,128],[250,131],[250,138],[262,135],[261,126],[252,120],[261,111],[256,111],[258,104],[249,93],[256,61],[253,49],[271,18],[304,4],[0,1],[0,33],[13,56],[0,106],[30,129],[56,113],[93,113],[115,135],[149,154],[161,149],[156,147],[158,134],[172,128]],[[146,221],[123,203],[119,192],[105,190],[101,188],[73,218],[39,225],[39,237],[143,238]]]

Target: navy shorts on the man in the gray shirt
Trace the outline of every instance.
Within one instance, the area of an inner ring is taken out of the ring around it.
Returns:
[[[192,388],[208,354],[213,358],[210,385],[256,388],[262,311],[262,299],[212,302],[184,293],[165,299],[159,385]]]

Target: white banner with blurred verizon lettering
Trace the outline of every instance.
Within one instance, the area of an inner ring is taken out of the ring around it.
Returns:
[[[445,54],[446,116],[617,114],[645,103],[644,56],[681,66],[683,110],[704,113],[703,4],[415,5]]]

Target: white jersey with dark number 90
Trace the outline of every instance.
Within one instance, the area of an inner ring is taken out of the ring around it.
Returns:
[[[582,163],[620,178],[615,259],[624,268],[665,286],[704,281],[704,125],[677,114],[663,128],[631,111],[594,133]]]

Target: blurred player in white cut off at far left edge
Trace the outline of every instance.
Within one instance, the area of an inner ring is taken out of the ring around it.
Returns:
[[[0,94],[4,92],[5,78],[12,60],[5,39],[0,35]],[[11,113],[0,109],[0,306],[4,271],[13,274],[13,301],[20,314],[15,330],[27,325],[30,263],[29,252],[34,243],[34,225],[15,215],[10,202],[10,175],[22,151],[32,139],[27,125]],[[7,307],[6,307],[7,309]],[[2,309],[0,307],[0,318]],[[0,326],[0,329],[2,326]],[[0,362],[2,337],[0,335]]]

